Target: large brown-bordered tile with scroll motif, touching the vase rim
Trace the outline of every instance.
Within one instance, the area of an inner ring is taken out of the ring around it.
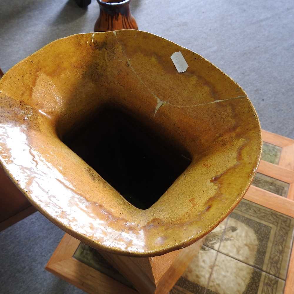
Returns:
[[[291,253],[293,218],[243,199],[230,214],[235,228],[219,252],[285,280]]]

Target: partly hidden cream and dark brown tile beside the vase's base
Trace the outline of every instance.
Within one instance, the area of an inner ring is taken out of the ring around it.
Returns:
[[[216,255],[217,251],[203,245],[170,293],[204,294]]]

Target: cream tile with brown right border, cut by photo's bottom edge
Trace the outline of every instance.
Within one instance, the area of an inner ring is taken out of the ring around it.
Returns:
[[[282,294],[285,282],[218,253],[206,294]]]

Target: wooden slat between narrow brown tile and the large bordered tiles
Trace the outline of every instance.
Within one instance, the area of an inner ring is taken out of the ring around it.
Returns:
[[[294,202],[255,186],[250,186],[244,199],[294,218]]]

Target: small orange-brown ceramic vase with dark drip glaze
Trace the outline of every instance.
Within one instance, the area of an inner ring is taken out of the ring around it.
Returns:
[[[95,32],[107,32],[121,29],[138,29],[135,18],[130,11],[131,0],[119,1],[97,0],[100,15],[94,26]]]

